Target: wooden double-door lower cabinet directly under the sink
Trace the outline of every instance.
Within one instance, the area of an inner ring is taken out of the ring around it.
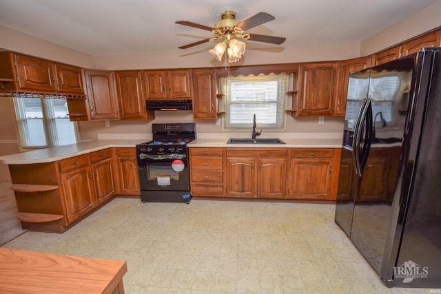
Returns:
[[[283,198],[288,149],[227,149],[226,196]]]

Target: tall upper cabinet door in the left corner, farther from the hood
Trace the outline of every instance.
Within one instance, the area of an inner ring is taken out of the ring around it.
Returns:
[[[119,117],[114,75],[105,70],[85,70],[85,83],[91,119],[116,119]]]

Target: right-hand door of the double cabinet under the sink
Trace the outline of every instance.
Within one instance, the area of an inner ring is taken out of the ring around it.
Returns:
[[[283,198],[286,187],[286,170],[286,158],[259,158],[257,196]]]

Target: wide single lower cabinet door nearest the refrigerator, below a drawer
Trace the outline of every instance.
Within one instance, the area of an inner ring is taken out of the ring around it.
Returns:
[[[289,197],[327,200],[331,189],[332,159],[292,158]]]

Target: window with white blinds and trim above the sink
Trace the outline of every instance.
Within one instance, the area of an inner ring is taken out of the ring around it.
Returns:
[[[227,76],[223,92],[224,129],[249,129],[254,114],[259,128],[285,128],[287,74]]]

